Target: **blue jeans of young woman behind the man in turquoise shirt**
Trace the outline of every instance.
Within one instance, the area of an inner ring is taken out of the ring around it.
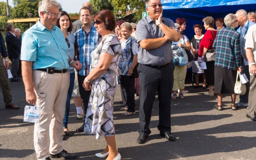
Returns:
[[[68,97],[66,100],[66,112],[65,112],[64,119],[63,119],[63,127],[68,127],[70,99],[71,99],[72,92],[74,89],[74,83],[75,83],[75,73],[70,73],[69,90],[68,90]]]

